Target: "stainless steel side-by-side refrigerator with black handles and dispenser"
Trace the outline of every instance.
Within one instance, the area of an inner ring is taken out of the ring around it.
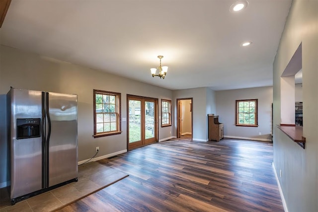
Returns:
[[[77,95],[11,88],[7,97],[11,204],[77,181]]]

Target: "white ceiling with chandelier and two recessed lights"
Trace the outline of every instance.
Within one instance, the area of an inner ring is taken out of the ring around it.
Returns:
[[[230,12],[235,2],[12,0],[0,41],[172,90],[270,86],[291,0],[248,0]],[[165,79],[150,73],[158,55]]]

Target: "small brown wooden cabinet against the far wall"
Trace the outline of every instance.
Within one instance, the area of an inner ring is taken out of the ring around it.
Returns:
[[[208,114],[209,141],[223,139],[223,124],[219,123],[219,116]]]

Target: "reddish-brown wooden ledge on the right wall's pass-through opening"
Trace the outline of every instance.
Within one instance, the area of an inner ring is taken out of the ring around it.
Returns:
[[[297,142],[301,147],[305,148],[306,138],[303,137],[303,127],[295,125],[276,125],[291,140]]]

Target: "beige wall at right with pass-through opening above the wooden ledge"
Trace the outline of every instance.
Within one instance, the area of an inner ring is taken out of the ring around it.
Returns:
[[[273,64],[274,126],[279,125],[281,119],[280,78],[301,43],[306,148],[274,127],[274,165],[288,211],[317,212],[318,0],[292,2]]]

